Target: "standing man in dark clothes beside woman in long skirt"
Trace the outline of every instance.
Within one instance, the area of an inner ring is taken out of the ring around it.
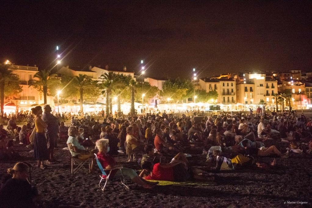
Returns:
[[[50,105],[43,106],[44,114],[42,120],[47,124],[46,128],[46,143],[48,147],[49,160],[48,163],[55,162],[54,148],[57,146],[57,133],[59,132],[58,119],[51,114]]]

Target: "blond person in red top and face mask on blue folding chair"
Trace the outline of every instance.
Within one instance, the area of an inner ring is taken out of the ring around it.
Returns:
[[[113,157],[110,157],[107,152],[109,152],[109,141],[108,139],[99,139],[95,143],[96,147],[98,148],[99,152],[97,153],[97,157],[99,158],[99,162],[101,163],[102,167],[105,169],[113,169],[115,167],[118,167],[118,164],[116,163],[115,159]],[[136,174],[136,172],[133,169],[130,168],[122,168],[121,169],[122,174],[125,178],[130,178],[134,183],[139,184],[143,186],[144,188],[152,188],[154,185],[158,184],[145,181],[141,177]],[[121,172],[118,169],[110,171],[105,171],[106,175],[110,173],[110,178],[113,177],[120,177]],[[106,176],[102,176],[106,177]]]

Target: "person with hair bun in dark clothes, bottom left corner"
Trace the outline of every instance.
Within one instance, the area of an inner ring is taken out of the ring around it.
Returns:
[[[30,167],[18,162],[7,170],[8,177],[4,178],[0,199],[1,207],[35,207],[34,201],[38,196],[35,188],[28,181]]]

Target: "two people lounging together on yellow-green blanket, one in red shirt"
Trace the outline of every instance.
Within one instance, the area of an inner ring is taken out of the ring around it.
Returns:
[[[154,148],[152,145],[145,146],[145,154],[149,158],[154,158]],[[211,181],[212,178],[206,177],[206,171],[190,167],[185,155],[178,153],[170,163],[153,163],[153,160],[141,160],[142,172],[140,176],[145,180],[160,181],[187,181],[191,179],[201,181]]]

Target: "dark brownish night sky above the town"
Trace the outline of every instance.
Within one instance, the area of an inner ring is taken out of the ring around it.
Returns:
[[[0,54],[16,64],[88,64],[151,77],[312,69],[311,1],[1,1]]]

